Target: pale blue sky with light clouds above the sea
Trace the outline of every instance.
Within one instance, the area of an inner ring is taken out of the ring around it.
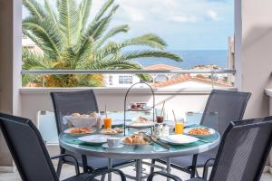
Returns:
[[[56,0],[50,1],[54,5]],[[92,0],[91,19],[105,1]],[[228,36],[234,33],[234,0],[115,0],[115,4],[120,8],[111,26],[131,27],[115,41],[155,33],[171,51],[228,50]]]

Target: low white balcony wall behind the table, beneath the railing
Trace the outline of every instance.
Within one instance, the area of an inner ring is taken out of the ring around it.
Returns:
[[[21,107],[22,116],[36,121],[36,113],[39,110],[53,111],[53,104],[50,98],[51,91],[73,91],[83,89],[22,89],[21,90]],[[94,89],[100,110],[103,110],[107,104],[108,110],[123,110],[125,89]],[[151,94],[145,89],[132,91],[131,101],[147,101],[151,102]],[[187,111],[204,110],[206,101],[209,96],[209,90],[206,91],[184,91],[184,90],[158,90],[156,91],[156,106],[158,109],[162,107],[163,101],[166,101],[165,108],[167,110],[175,110],[177,117],[185,117]],[[172,117],[171,114],[169,114]]]

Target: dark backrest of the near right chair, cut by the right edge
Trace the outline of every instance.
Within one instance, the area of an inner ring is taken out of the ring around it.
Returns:
[[[258,181],[272,146],[272,117],[231,122],[210,181]]]

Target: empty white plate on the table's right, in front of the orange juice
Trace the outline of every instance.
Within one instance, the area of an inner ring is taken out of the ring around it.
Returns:
[[[190,137],[188,135],[170,135],[167,137],[161,137],[160,140],[172,145],[186,145],[199,141],[199,138]]]

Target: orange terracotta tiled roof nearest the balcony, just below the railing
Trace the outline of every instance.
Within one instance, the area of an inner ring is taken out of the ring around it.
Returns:
[[[156,88],[162,88],[162,87],[167,87],[170,85],[179,84],[179,83],[182,83],[185,81],[201,81],[203,83],[212,84],[212,81],[210,79],[191,77],[188,74],[182,74],[179,77],[170,79],[169,81],[161,81],[161,82],[153,83],[153,84],[151,84],[151,86],[156,87]],[[228,83],[226,83],[224,81],[214,81],[214,85],[215,86],[231,87],[231,85],[229,85]]]

